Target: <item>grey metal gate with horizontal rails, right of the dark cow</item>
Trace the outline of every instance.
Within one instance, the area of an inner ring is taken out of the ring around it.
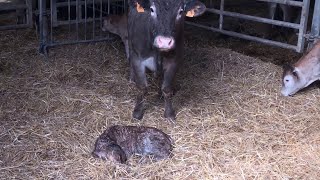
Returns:
[[[272,20],[272,19],[263,18],[263,17],[256,17],[256,16],[251,16],[251,15],[245,15],[245,14],[225,11],[224,10],[225,0],[221,0],[220,1],[220,8],[219,9],[207,8],[207,12],[219,15],[219,27],[212,27],[212,26],[202,25],[202,24],[194,23],[194,22],[187,22],[187,23],[190,24],[190,25],[197,26],[197,27],[201,27],[201,28],[205,28],[205,29],[208,29],[208,30],[212,30],[214,32],[219,32],[219,33],[222,33],[222,34],[225,34],[225,35],[238,37],[238,38],[251,40],[251,41],[256,41],[256,42],[261,42],[261,43],[265,43],[265,44],[273,45],[273,46],[278,46],[278,47],[282,47],[282,48],[292,49],[292,50],[295,50],[297,52],[303,52],[304,43],[305,43],[305,37],[308,37],[309,39],[319,38],[320,0],[315,0],[316,2],[315,2],[315,7],[314,7],[313,23],[312,23],[312,28],[311,28],[312,31],[311,31],[310,34],[306,34],[310,0],[303,0],[303,1],[294,1],[294,0],[257,0],[257,1],[269,2],[269,3],[280,3],[280,4],[295,6],[295,7],[301,7],[300,23],[296,24],[296,23],[291,23],[291,22],[284,22],[284,21]],[[296,30],[298,30],[298,41],[297,41],[297,44],[291,45],[291,44],[287,44],[287,43],[283,43],[283,42],[279,42],[279,41],[264,39],[264,38],[260,38],[260,37],[256,37],[256,36],[251,36],[251,35],[246,35],[246,34],[234,32],[234,31],[225,30],[223,28],[224,27],[224,17],[225,16],[296,29]]]

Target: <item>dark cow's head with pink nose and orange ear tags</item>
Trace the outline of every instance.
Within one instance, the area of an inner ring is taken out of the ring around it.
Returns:
[[[197,17],[205,12],[205,5],[198,0],[131,0],[131,10],[150,16],[153,46],[160,51],[175,48],[176,33],[183,26],[184,18]]]

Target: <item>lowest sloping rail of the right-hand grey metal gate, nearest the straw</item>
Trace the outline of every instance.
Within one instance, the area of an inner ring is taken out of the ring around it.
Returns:
[[[197,24],[197,23],[192,23],[192,22],[186,22],[186,23],[189,24],[189,25],[193,25],[193,26],[204,28],[204,29],[208,29],[208,30],[211,30],[211,31],[214,31],[214,32],[219,32],[221,34],[234,36],[234,37],[238,37],[238,38],[242,38],[242,39],[246,39],[246,40],[250,40],[250,41],[261,42],[261,43],[264,43],[264,44],[278,46],[278,47],[292,49],[292,50],[296,50],[297,51],[297,46],[294,46],[294,45],[281,43],[281,42],[277,42],[277,41],[272,41],[272,40],[268,40],[268,39],[263,39],[263,38],[259,38],[259,37],[255,37],[255,36],[249,36],[249,35],[233,32],[233,31],[220,30],[218,28],[208,27],[208,26],[204,26],[204,25],[201,25],[201,24]]]

